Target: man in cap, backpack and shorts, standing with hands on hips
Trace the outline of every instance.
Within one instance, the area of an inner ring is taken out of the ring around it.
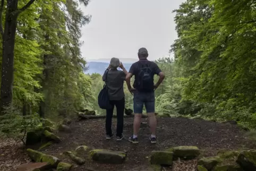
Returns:
[[[165,78],[156,63],[148,61],[148,50],[140,48],[138,52],[139,61],[132,64],[129,73],[126,75],[126,83],[129,91],[133,94],[134,122],[133,135],[129,138],[132,143],[138,143],[138,132],[140,129],[143,105],[145,105],[149,126],[151,131],[150,141],[156,143],[157,121],[155,116],[155,89],[159,87]],[[159,80],[154,84],[153,76],[157,74]],[[135,75],[133,88],[131,78]]]

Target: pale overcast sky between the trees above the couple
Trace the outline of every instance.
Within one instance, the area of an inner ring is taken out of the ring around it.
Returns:
[[[146,47],[149,59],[168,55],[177,38],[173,10],[185,0],[91,0],[92,15],[83,29],[82,56],[86,59],[137,58]]]

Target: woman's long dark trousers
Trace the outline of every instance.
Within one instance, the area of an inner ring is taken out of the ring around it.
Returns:
[[[124,98],[122,100],[110,100],[112,104],[112,109],[107,109],[106,116],[106,133],[107,135],[112,135],[112,117],[114,112],[114,106],[116,106],[116,116],[117,116],[117,126],[116,126],[116,136],[122,136],[123,126],[124,126]]]

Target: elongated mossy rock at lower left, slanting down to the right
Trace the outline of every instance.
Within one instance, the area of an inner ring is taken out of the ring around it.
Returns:
[[[54,156],[46,155],[46,154],[41,153],[41,152],[36,151],[36,150],[27,149],[27,153],[28,153],[29,157],[33,161],[36,161],[36,162],[47,162],[53,168],[56,168],[58,163],[59,163],[59,159],[58,158],[56,158]]]

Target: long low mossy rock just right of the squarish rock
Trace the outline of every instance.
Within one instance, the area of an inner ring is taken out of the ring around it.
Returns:
[[[195,158],[200,155],[200,150],[195,146],[180,146],[173,148],[174,157],[180,158]]]

